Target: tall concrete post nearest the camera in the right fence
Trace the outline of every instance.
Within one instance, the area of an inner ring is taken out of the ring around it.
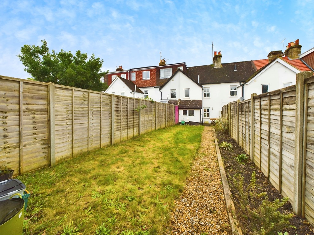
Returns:
[[[300,216],[302,209],[302,158],[303,158],[303,121],[304,121],[304,79],[312,72],[301,72],[296,75],[295,94],[295,170],[293,212]],[[304,162],[305,164],[305,162]],[[302,215],[304,216],[304,215]]]

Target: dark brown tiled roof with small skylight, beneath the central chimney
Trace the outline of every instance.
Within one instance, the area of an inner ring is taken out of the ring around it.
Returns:
[[[189,67],[187,75],[196,82],[199,75],[200,84],[213,84],[246,81],[256,71],[252,60],[221,65],[221,68],[214,68],[214,65]]]

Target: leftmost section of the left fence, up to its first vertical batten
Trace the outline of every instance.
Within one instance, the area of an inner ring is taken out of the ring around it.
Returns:
[[[0,166],[19,171],[20,82],[0,78],[0,84]]]

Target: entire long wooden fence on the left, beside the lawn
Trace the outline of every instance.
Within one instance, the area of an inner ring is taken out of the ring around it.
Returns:
[[[171,104],[53,83],[0,76],[0,94],[0,166],[15,175],[172,126],[175,119]]]

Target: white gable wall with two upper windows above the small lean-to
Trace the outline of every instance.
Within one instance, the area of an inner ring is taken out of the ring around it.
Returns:
[[[170,97],[170,90],[176,90],[176,98]],[[184,89],[190,89],[190,97],[184,97]],[[162,100],[201,100],[202,88],[195,82],[185,76],[182,72],[178,72],[172,79],[162,88]],[[199,122],[199,120],[198,120]]]

